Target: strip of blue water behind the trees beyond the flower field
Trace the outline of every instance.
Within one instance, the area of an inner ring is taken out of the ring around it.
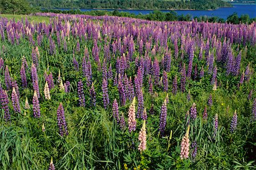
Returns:
[[[60,9],[69,10],[69,9]],[[81,9],[81,11],[92,11],[97,9]],[[107,11],[113,11],[113,9],[107,9]],[[149,14],[153,10],[118,10],[123,12],[130,12],[134,14]],[[163,12],[168,12],[169,10],[162,10]],[[233,5],[233,7],[228,8],[218,8],[217,10],[207,11],[207,10],[175,10],[178,15],[191,14],[192,16],[218,16],[219,18],[228,18],[234,12],[237,12],[239,16],[242,14],[248,14],[250,18],[256,17],[256,5]]]

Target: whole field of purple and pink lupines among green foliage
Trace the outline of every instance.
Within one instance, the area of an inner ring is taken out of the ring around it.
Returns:
[[[0,169],[254,169],[256,23],[0,18]]]

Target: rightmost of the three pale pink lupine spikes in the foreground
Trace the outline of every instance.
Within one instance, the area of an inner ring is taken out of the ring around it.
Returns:
[[[182,138],[180,146],[180,159],[187,159],[189,155],[189,125],[186,134]]]

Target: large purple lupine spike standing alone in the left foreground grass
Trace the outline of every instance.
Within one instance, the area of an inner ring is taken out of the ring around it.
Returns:
[[[64,108],[62,103],[60,103],[57,109],[57,124],[59,126],[61,137],[63,137],[64,134],[68,135],[68,127],[65,121],[65,114],[64,114]]]

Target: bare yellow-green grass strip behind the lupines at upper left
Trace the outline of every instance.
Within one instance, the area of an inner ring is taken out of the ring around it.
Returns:
[[[31,15],[14,15],[14,14],[0,14],[0,17],[17,20],[25,19],[27,17],[29,22],[49,22],[49,18],[46,16],[31,16]]]

